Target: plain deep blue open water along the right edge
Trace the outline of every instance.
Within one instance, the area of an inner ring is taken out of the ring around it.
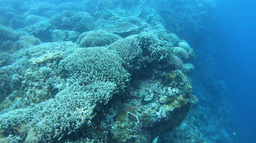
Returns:
[[[214,59],[233,103],[230,128],[242,142],[256,142],[256,2],[217,1],[213,17]],[[237,126],[231,126],[237,124]]]

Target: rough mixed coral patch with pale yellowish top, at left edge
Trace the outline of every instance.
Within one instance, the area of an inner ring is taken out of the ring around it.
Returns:
[[[53,97],[58,89],[63,89],[61,79],[56,76],[57,62],[63,51],[71,47],[75,44],[44,43],[15,52],[9,65],[0,70],[0,98],[16,102],[15,97],[19,97],[13,106],[24,107]]]

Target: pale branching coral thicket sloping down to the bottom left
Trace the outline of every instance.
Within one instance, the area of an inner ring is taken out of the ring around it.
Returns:
[[[54,99],[41,102],[33,108],[16,109],[1,116],[1,129],[32,125],[36,141],[47,142],[73,133],[83,124],[90,124],[93,108],[98,101],[106,102],[116,85],[94,82],[86,86],[67,87]],[[73,96],[71,96],[73,95]],[[104,101],[106,100],[106,101]]]

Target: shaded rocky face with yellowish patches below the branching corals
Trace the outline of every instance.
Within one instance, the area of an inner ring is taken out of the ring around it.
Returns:
[[[137,80],[139,87],[130,89],[128,102],[114,104],[115,108],[120,105],[123,107],[118,110],[111,125],[111,132],[117,142],[150,142],[154,138],[147,138],[148,134],[172,130],[186,117],[191,95],[188,79],[180,71],[175,71],[173,85],[164,85],[164,81],[158,79],[159,72],[153,73],[154,81]]]

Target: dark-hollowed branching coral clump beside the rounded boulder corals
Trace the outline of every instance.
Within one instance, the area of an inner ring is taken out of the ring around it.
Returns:
[[[145,68],[148,63],[154,63],[153,67],[167,67],[172,48],[172,43],[159,40],[152,34],[129,36],[109,46],[118,52],[124,67],[131,72]]]

